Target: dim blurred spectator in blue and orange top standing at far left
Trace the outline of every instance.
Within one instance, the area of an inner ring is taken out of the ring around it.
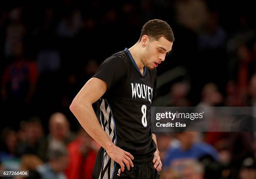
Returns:
[[[15,43],[13,62],[5,68],[2,77],[1,96],[3,100],[31,102],[36,90],[38,69],[34,61],[28,61],[24,56],[23,43]]]

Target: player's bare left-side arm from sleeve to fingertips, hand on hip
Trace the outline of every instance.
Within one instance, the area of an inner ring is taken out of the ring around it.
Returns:
[[[78,92],[69,108],[84,130],[107,151],[111,159],[120,164],[121,170],[124,171],[125,166],[130,170],[130,166],[133,167],[131,161],[131,159],[134,159],[133,156],[131,153],[115,146],[101,128],[92,108],[92,103],[102,97],[106,90],[106,82],[98,78],[91,78]]]

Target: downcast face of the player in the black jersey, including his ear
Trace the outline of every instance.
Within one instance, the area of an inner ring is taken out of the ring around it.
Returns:
[[[172,42],[161,37],[157,41],[149,41],[148,36],[144,35],[141,38],[143,51],[141,61],[148,69],[154,69],[164,61],[166,54],[172,50]]]

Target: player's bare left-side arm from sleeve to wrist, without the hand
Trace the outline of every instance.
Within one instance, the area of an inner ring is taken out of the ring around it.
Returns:
[[[112,147],[113,142],[105,131],[102,130],[92,108],[92,103],[96,102],[105,93],[106,89],[107,85],[102,80],[95,78],[90,79],[72,101],[70,110],[84,130],[86,130],[100,146],[108,150]]]

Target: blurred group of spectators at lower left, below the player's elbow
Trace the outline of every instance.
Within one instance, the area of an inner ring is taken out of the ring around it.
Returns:
[[[5,128],[1,139],[1,169],[29,170],[30,179],[90,179],[100,148],[84,129],[72,133],[59,112],[50,116],[47,135],[33,117],[18,131]]]

